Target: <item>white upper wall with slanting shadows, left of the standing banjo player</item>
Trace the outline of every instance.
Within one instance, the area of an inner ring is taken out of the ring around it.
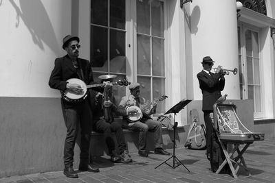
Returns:
[[[1,1],[1,97],[60,96],[47,83],[54,59],[65,55],[71,12],[68,0]]]

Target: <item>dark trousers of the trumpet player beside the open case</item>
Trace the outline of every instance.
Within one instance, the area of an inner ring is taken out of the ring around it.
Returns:
[[[211,149],[210,149],[211,136],[214,132],[212,119],[210,118],[210,113],[212,113],[212,112],[213,112],[212,110],[203,110],[204,123],[206,123],[206,154],[207,154],[207,156],[209,156],[210,151],[211,151]]]

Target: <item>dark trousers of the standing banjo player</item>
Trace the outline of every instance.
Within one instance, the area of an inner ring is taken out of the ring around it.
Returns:
[[[65,125],[67,135],[64,145],[64,164],[65,167],[72,167],[74,162],[74,146],[80,125],[80,162],[89,163],[89,144],[92,128],[92,114],[88,103],[79,103],[71,108],[64,109]]]

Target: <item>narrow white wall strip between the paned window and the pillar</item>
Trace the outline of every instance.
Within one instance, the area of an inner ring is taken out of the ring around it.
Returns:
[[[187,99],[186,87],[186,45],[184,30],[184,11],[179,7],[179,1],[166,1],[168,5],[167,13],[167,50],[166,60],[168,61],[168,87],[166,88],[168,97],[167,110],[175,106],[182,99]],[[186,125],[186,108],[181,110],[176,116],[179,125]]]

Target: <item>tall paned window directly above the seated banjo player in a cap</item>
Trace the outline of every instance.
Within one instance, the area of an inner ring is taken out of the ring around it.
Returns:
[[[137,82],[148,100],[165,94],[164,2],[137,2]],[[165,101],[157,113],[165,111]]]

